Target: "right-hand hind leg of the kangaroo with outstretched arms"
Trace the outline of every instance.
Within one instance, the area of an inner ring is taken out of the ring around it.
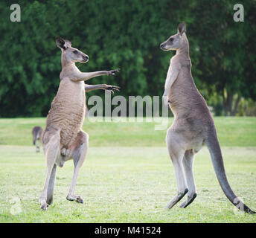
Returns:
[[[83,199],[80,196],[74,194],[74,188],[77,183],[77,176],[83,161],[86,158],[86,154],[89,147],[89,135],[86,132],[80,131],[77,134],[77,138],[68,150],[71,151],[71,157],[74,161],[74,175],[71,181],[67,199],[69,201],[77,201],[83,203]]]

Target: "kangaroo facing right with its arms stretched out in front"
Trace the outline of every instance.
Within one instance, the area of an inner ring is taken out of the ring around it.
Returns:
[[[119,71],[119,69],[115,69],[89,73],[81,72],[75,63],[88,62],[88,55],[71,47],[71,42],[60,37],[56,39],[56,44],[62,51],[62,71],[60,73],[60,86],[51,103],[45,131],[42,135],[46,158],[45,185],[39,198],[42,210],[46,210],[48,205],[53,202],[57,166],[63,167],[65,161],[69,159],[74,161],[74,175],[66,199],[83,203],[83,199],[74,194],[74,188],[78,172],[89,147],[89,135],[82,130],[86,102],[84,81],[100,75],[115,76]]]

